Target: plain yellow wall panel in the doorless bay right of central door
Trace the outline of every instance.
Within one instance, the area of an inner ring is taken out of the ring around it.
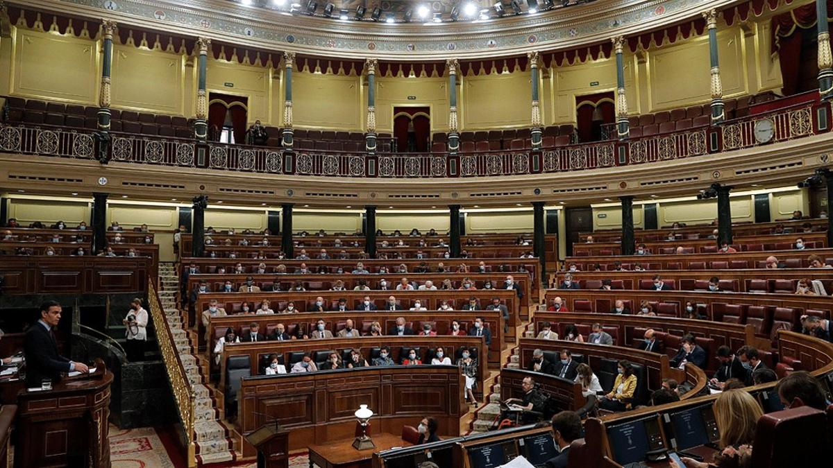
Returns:
[[[531,89],[529,72],[463,77],[462,128],[529,127]]]

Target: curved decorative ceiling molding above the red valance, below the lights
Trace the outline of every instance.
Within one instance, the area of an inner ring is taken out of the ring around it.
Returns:
[[[779,0],[773,0],[778,2]],[[789,2],[790,0],[781,0]],[[227,0],[7,1],[70,16],[112,19],[159,32],[317,56],[426,61],[522,55],[607,42],[699,18],[746,0],[598,0],[536,15],[483,22],[337,21],[244,7]],[[796,0],[793,3],[801,3]]]

